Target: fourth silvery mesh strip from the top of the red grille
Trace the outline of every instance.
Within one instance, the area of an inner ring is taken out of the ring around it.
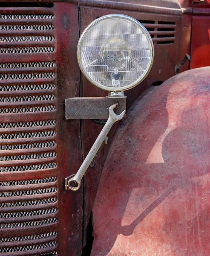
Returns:
[[[17,47],[17,48],[0,48],[0,53],[41,53],[54,52],[54,47]]]

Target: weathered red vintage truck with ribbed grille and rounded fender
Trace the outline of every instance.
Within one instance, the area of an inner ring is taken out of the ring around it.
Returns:
[[[78,65],[104,15],[154,45],[127,99]],[[0,256],[209,256],[208,66],[210,0],[0,0]],[[74,191],[111,102],[126,117]]]

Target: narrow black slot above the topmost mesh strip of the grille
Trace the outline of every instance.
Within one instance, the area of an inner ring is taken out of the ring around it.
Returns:
[[[43,2],[0,2],[0,7],[42,7],[52,8],[53,3]]]

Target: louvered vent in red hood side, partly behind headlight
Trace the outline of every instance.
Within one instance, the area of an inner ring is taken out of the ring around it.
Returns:
[[[139,20],[151,35],[153,43],[173,44],[176,24],[173,21]]]

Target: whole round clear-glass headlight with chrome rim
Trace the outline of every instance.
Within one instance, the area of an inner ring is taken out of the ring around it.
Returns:
[[[83,31],[77,48],[82,73],[103,90],[123,91],[149,73],[154,46],[147,29],[126,15],[105,15]]]

